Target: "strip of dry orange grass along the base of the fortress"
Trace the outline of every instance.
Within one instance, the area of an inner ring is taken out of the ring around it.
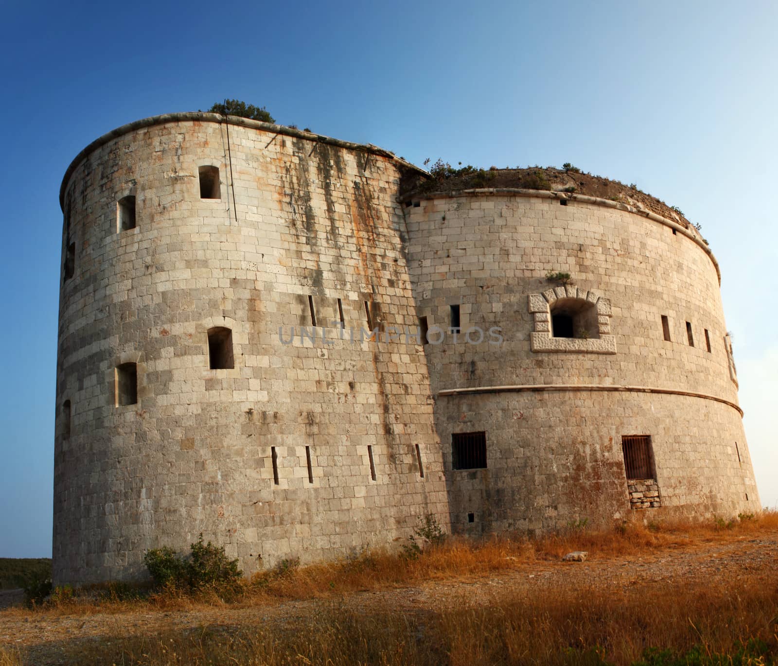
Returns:
[[[429,548],[416,559],[397,552],[365,551],[335,563],[322,563],[288,570],[272,570],[244,580],[232,591],[177,591],[142,594],[125,598],[114,594],[87,594],[42,608],[15,608],[10,615],[91,615],[132,611],[188,610],[229,603],[233,607],[275,603],[281,599],[328,599],[356,591],[380,590],[420,584],[430,580],[483,576],[542,561],[559,561],[566,552],[587,550],[590,559],[614,556],[646,556],[652,550],[694,548],[703,543],[731,542],[778,529],[778,511],[758,517],[742,517],[728,523],[693,524],[676,521],[661,525],[619,525],[594,531],[571,527],[537,538],[501,536],[480,542],[448,538],[440,547]]]

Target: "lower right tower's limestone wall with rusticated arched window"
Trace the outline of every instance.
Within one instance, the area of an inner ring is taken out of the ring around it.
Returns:
[[[662,500],[641,518],[759,510],[717,265],[693,229],[562,193],[414,199],[419,316],[448,329],[454,307],[461,327],[425,345],[456,528],[634,517],[622,436],[650,437]],[[584,335],[553,334],[560,304],[587,313]],[[452,435],[481,432],[486,468],[454,469]]]

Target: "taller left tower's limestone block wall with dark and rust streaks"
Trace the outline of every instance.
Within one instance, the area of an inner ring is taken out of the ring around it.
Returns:
[[[422,514],[447,525],[421,345],[348,332],[415,324],[395,201],[411,167],[220,120],[120,128],[65,177],[57,582],[142,577],[145,550],[200,532],[251,573],[390,545]],[[215,328],[233,367],[210,368]]]

